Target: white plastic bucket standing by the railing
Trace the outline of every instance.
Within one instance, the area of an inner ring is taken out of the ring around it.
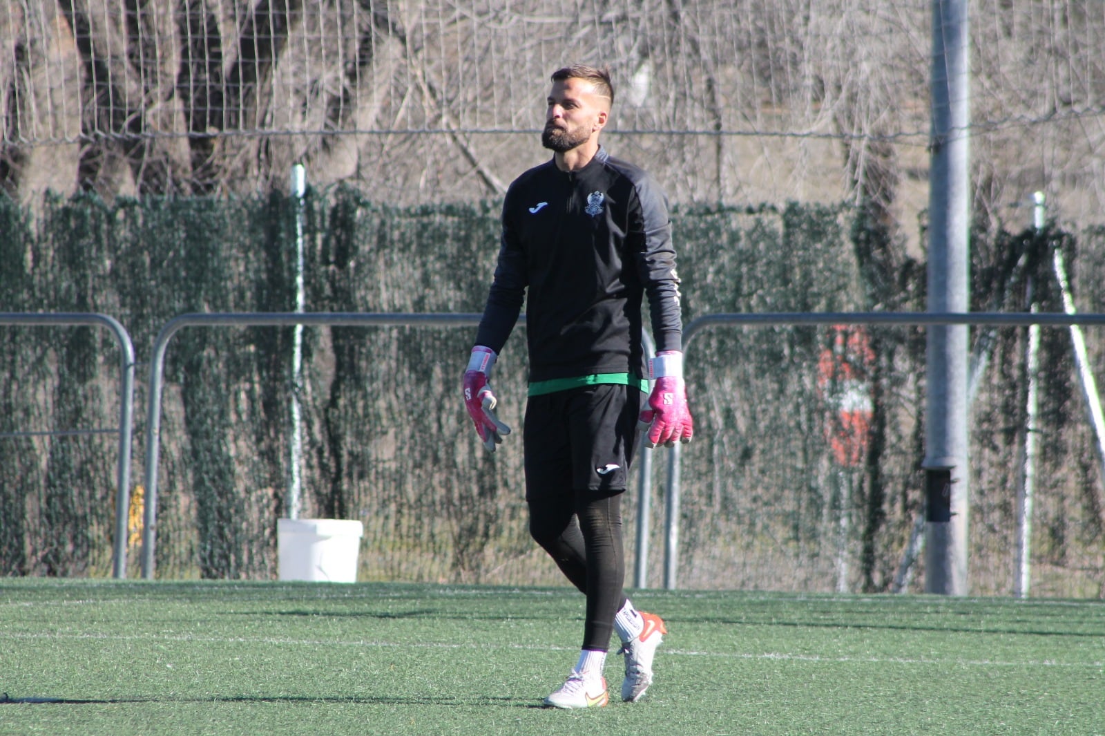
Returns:
[[[365,525],[337,518],[276,519],[281,580],[356,582]]]

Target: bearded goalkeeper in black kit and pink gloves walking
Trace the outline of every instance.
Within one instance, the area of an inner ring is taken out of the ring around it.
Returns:
[[[650,446],[686,442],[692,420],[682,366],[682,319],[667,203],[641,169],[599,145],[613,103],[606,70],[552,74],[541,143],[552,160],[509,187],[494,281],[464,374],[465,407],[494,452],[509,428],[488,380],[526,298],[529,389],[523,429],[529,530],[587,597],[583,645],[546,705],[606,705],[612,631],[622,641],[622,698],[652,683],[664,621],[622,592],[621,496],[639,424]],[[527,295],[528,291],[528,295]],[[648,295],[655,386],[641,410]]]

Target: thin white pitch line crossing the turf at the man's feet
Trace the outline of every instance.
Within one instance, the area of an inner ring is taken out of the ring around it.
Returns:
[[[191,634],[112,634],[112,633],[19,633],[0,631],[3,640],[95,640],[124,642],[185,642],[197,644],[272,644],[281,646],[360,646],[376,649],[451,649],[451,650],[485,650],[511,649],[532,652],[567,652],[576,651],[575,646],[537,645],[537,644],[487,644],[452,643],[452,642],[388,642],[368,640],[326,640],[326,639],[277,639],[273,637],[194,637]],[[684,649],[665,649],[664,656],[701,656],[727,660],[770,660],[780,662],[824,662],[833,664],[906,664],[906,665],[957,665],[970,667],[1083,667],[1090,670],[1105,669],[1105,662],[1056,662],[1054,660],[1028,660],[1011,662],[1003,660],[958,660],[903,656],[822,656],[820,654],[798,654],[792,652],[725,652],[696,651]]]

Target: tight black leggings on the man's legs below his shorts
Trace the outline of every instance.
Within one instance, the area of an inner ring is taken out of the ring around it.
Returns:
[[[614,613],[625,603],[621,492],[597,496],[577,491],[566,498],[529,502],[529,534],[587,596],[583,649],[610,648]]]

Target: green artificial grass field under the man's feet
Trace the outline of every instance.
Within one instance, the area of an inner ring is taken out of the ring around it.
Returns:
[[[1105,604],[639,591],[635,704],[550,711],[562,588],[0,580],[0,734],[1105,734]]]

